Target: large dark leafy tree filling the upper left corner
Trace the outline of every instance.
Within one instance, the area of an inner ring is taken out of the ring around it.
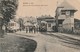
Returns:
[[[2,30],[2,26],[4,24],[7,25],[10,19],[13,19],[15,17],[18,6],[18,0],[1,0],[0,6],[1,6],[0,13],[3,17],[2,21],[0,21],[1,23],[3,23],[0,26],[1,27],[0,30]]]

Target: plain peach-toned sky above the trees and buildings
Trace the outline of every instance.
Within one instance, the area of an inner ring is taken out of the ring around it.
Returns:
[[[55,9],[64,0],[19,0],[19,7],[17,10],[17,17],[25,16],[40,16],[40,15],[51,15],[55,16]],[[75,18],[80,19],[80,0],[67,0],[72,6],[74,6],[78,11],[75,13]],[[47,6],[23,6],[29,5],[47,5]]]

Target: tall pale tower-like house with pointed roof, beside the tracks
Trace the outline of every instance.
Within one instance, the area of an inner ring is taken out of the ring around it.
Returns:
[[[56,27],[73,30],[74,28],[74,13],[77,10],[67,1],[62,2],[56,9]]]

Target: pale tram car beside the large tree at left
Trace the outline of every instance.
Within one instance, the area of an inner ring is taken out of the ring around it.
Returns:
[[[8,23],[8,26],[7,26],[7,31],[8,32],[16,32],[18,30],[19,30],[19,24],[17,22],[10,21]]]

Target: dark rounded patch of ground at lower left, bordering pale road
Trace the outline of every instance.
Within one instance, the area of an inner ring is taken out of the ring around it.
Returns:
[[[37,42],[15,35],[6,35],[0,38],[0,52],[34,52]]]

